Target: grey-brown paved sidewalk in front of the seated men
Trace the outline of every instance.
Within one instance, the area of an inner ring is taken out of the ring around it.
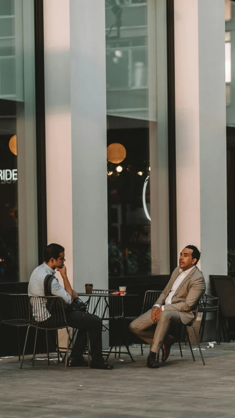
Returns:
[[[206,344],[202,344],[202,347]],[[193,344],[193,347],[196,347]],[[145,367],[140,349],[135,363],[111,358],[114,370],[75,368],[26,356],[0,361],[0,418],[216,418],[235,417],[235,343],[199,351],[193,363],[188,345],[183,359],[177,344],[160,369]],[[43,355],[37,357],[45,357]],[[51,356],[52,357],[52,356]]]

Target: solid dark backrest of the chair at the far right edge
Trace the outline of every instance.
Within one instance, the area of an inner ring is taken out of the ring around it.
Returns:
[[[235,278],[214,276],[213,283],[222,315],[225,318],[235,317]]]

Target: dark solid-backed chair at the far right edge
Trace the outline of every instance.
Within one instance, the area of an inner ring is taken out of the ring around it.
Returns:
[[[212,276],[215,295],[219,298],[219,319],[224,340],[235,339],[234,329],[229,330],[227,321],[235,319],[235,278],[230,276]]]

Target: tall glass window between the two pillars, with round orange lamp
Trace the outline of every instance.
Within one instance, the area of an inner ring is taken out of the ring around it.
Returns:
[[[105,0],[109,275],[169,273],[165,0]]]

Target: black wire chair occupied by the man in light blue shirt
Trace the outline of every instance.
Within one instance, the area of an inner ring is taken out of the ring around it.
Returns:
[[[26,334],[25,343],[24,343],[21,369],[23,367],[23,362],[24,362],[24,353],[25,353],[25,347],[27,344],[28,331],[30,327],[34,327],[36,328],[36,335],[35,335],[35,342],[34,342],[32,366],[34,366],[34,360],[35,360],[38,329],[44,329],[46,331],[47,364],[49,366],[50,361],[49,361],[49,352],[48,352],[47,331],[49,330],[57,331],[56,332],[56,345],[57,345],[57,357],[58,357],[57,361],[59,363],[60,352],[59,352],[59,342],[58,342],[58,329],[66,328],[68,332],[68,342],[67,342],[67,350],[66,350],[65,370],[67,370],[67,359],[68,359],[68,351],[69,351],[69,344],[70,344],[71,327],[68,325],[66,321],[63,300],[58,296],[39,296],[39,297],[30,296],[29,303],[28,303],[28,311],[29,311],[29,326],[27,329],[27,334]]]

